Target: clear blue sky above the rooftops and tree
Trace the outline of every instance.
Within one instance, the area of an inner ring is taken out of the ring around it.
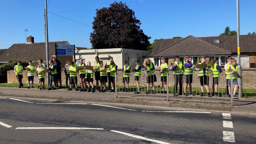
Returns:
[[[49,0],[48,0],[49,2]],[[92,25],[95,9],[109,7],[111,0],[50,0],[48,11]],[[119,2],[119,1],[117,1]],[[150,42],[154,39],[193,35],[218,36],[226,26],[236,30],[236,0],[123,0],[142,23],[141,29]],[[256,1],[240,0],[240,34],[256,31]],[[44,0],[1,1],[0,49],[15,43],[26,43],[32,35],[35,42],[44,42]],[[49,41],[67,40],[77,47],[88,47],[89,26],[48,13]]]

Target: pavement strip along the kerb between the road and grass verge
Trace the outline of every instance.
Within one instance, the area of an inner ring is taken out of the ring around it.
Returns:
[[[166,100],[142,100],[131,98],[116,98],[115,93],[105,92],[79,92],[67,91],[66,89],[57,90],[39,90],[36,88],[10,88],[0,87],[0,96],[2,97],[23,97],[23,98],[41,98],[41,99],[60,99],[62,101],[81,101],[81,102],[103,102],[103,103],[122,103],[122,104],[138,104],[152,106],[167,106],[178,108],[194,108],[194,109],[211,109],[222,111],[237,111],[256,113],[256,98],[239,98],[233,100],[234,105],[221,103],[196,103],[196,102],[173,102]]]

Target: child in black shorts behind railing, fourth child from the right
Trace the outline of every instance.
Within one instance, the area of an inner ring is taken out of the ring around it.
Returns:
[[[200,58],[201,62],[199,62],[198,64],[205,64],[206,61],[206,57],[202,56]],[[204,96],[204,85],[205,88],[207,90],[207,96],[211,97],[211,94],[209,92],[209,70],[210,68],[207,66],[206,68],[197,68],[198,65],[196,66],[196,71],[198,71],[198,77],[200,79],[200,85],[201,85],[201,90],[202,93],[200,94],[200,96]]]

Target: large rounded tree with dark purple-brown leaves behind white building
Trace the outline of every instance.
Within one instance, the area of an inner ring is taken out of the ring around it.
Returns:
[[[90,42],[95,49],[147,50],[151,37],[143,33],[140,25],[140,20],[126,3],[114,2],[109,8],[96,9]]]

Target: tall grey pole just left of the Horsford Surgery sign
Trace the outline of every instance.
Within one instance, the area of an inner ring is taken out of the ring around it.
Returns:
[[[49,41],[48,41],[48,19],[47,19],[47,0],[45,0],[45,9],[44,9],[44,15],[45,15],[45,48],[46,48],[46,64],[47,67],[49,67]],[[48,80],[48,86],[50,84],[50,74],[47,73],[47,80]]]

